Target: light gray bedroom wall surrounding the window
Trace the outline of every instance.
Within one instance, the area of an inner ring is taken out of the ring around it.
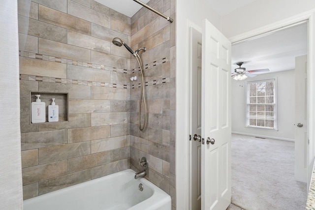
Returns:
[[[278,130],[246,127],[246,83],[277,79]],[[294,70],[261,74],[243,81],[232,80],[232,132],[294,141]]]

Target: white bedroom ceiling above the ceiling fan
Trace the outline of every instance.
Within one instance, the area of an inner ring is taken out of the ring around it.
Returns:
[[[232,72],[238,67],[237,62],[244,62],[242,67],[246,70],[292,70],[295,68],[295,57],[306,54],[307,24],[304,23],[232,45]]]

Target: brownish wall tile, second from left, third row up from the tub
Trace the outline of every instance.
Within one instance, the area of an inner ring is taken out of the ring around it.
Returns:
[[[38,162],[44,164],[87,154],[91,154],[91,142],[47,147],[39,149]]]

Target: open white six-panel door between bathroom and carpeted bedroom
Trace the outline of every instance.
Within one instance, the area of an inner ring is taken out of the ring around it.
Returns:
[[[201,209],[231,203],[231,42],[208,20],[202,29]],[[214,144],[207,144],[208,142]]]

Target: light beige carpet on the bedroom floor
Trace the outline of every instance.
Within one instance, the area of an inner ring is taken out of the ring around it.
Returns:
[[[305,210],[294,180],[294,143],[232,134],[232,204],[244,210]]]

